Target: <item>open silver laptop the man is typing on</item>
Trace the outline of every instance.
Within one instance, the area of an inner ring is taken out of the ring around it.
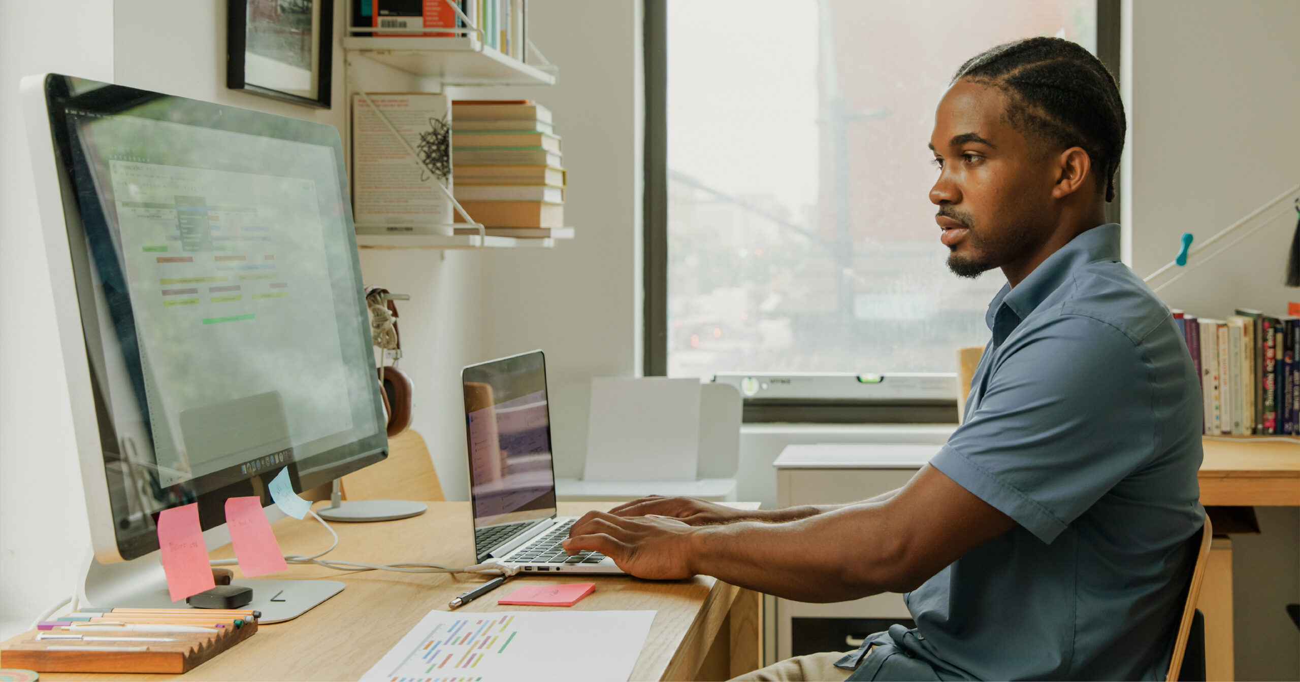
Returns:
[[[469,501],[477,562],[521,573],[623,570],[599,552],[564,553],[577,517],[555,514],[546,357],[521,353],[460,370],[469,442]]]

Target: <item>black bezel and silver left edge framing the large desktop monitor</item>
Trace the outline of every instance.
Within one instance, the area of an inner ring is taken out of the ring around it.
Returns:
[[[81,81],[81,79],[75,79]],[[82,204],[78,200],[78,182],[75,179],[75,164],[72,153],[72,139],[68,133],[68,116],[64,107],[69,101],[75,101],[78,109],[95,110],[96,107],[107,109],[105,113],[126,104],[147,101],[157,97],[173,97],[183,100],[187,107],[195,110],[208,108],[213,114],[209,122],[226,122],[231,118],[240,121],[264,121],[268,125],[261,133],[264,136],[286,139],[294,142],[307,142],[329,147],[334,153],[335,178],[338,179],[338,192],[342,201],[341,216],[344,220],[344,238],[348,240],[350,268],[358,282],[356,309],[365,314],[364,291],[360,284],[361,269],[356,252],[355,227],[350,205],[350,192],[347,188],[347,174],[343,165],[343,148],[338,130],[334,126],[316,123],[296,118],[287,118],[276,114],[252,112],[237,107],[218,105],[202,100],[178,97],[147,90],[130,88],[112,83],[96,83],[98,87],[74,94],[72,83],[74,79],[62,74],[39,74],[23,79],[23,105],[26,109],[29,144],[32,157],[34,181],[36,184],[36,199],[40,207],[42,226],[44,231],[46,252],[49,260],[51,286],[55,294],[55,313],[58,323],[60,346],[62,348],[65,377],[69,387],[69,401],[73,413],[75,430],[78,460],[81,462],[82,485],[86,494],[87,521],[91,529],[91,542],[95,557],[100,562],[130,560],[144,556],[159,548],[155,533],[120,537],[113,512],[114,496],[125,495],[126,491],[116,488],[107,475],[109,457],[121,457],[118,436],[112,420],[105,416],[104,390],[98,386],[91,364],[91,346],[87,334],[88,322],[98,320],[94,305],[83,307],[78,290],[84,290],[90,282],[90,273],[84,268],[75,265],[78,259],[84,256],[84,217]],[[94,95],[87,97],[87,95]],[[82,97],[81,100],[77,100]],[[225,113],[226,118],[221,120]],[[221,125],[209,125],[217,130],[237,130]],[[272,133],[266,133],[266,131]],[[289,131],[292,134],[290,135]],[[278,134],[274,134],[278,133]],[[87,179],[88,181],[88,179]],[[84,292],[84,291],[83,291]],[[88,310],[86,308],[90,308]],[[94,329],[94,327],[90,327]],[[358,325],[359,333],[369,347],[369,338],[364,335],[369,330],[369,322]],[[98,334],[98,333],[96,333]],[[373,362],[373,356],[370,356]],[[387,456],[387,438],[385,434],[385,416],[382,400],[380,398],[378,382],[373,382],[370,399],[376,416],[377,430],[369,436],[356,439],[346,446],[341,446],[299,461],[290,461],[287,465],[272,466],[246,478],[230,482],[213,490],[207,490],[196,495],[190,501],[199,503],[199,517],[204,530],[225,524],[224,504],[230,496],[260,496],[264,507],[273,504],[269,498],[266,483],[270,482],[282,469],[289,470],[294,490],[303,491],[328,483],[347,473],[363,466],[382,461]],[[272,455],[268,452],[266,455]],[[304,465],[302,469],[299,464]],[[208,477],[222,474],[216,472],[196,477],[194,481],[202,483]],[[229,479],[229,473],[224,473],[221,481]],[[214,479],[217,481],[217,479]],[[199,485],[199,487],[205,487]],[[179,504],[188,504],[182,500]],[[174,504],[174,505],[179,505]],[[155,512],[156,516],[156,512]]]

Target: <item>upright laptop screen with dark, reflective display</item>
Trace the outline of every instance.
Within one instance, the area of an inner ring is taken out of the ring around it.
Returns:
[[[541,351],[462,370],[474,530],[555,516],[546,359]],[[508,533],[507,535],[514,535]]]

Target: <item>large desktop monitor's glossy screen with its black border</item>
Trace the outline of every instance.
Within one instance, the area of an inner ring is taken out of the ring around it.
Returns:
[[[164,508],[211,527],[282,469],[381,460],[337,130],[57,75],[47,97],[122,557]]]

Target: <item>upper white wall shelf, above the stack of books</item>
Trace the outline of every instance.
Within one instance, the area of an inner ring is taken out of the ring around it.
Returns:
[[[507,57],[477,36],[343,36],[343,49],[448,86],[551,86],[555,74]]]

